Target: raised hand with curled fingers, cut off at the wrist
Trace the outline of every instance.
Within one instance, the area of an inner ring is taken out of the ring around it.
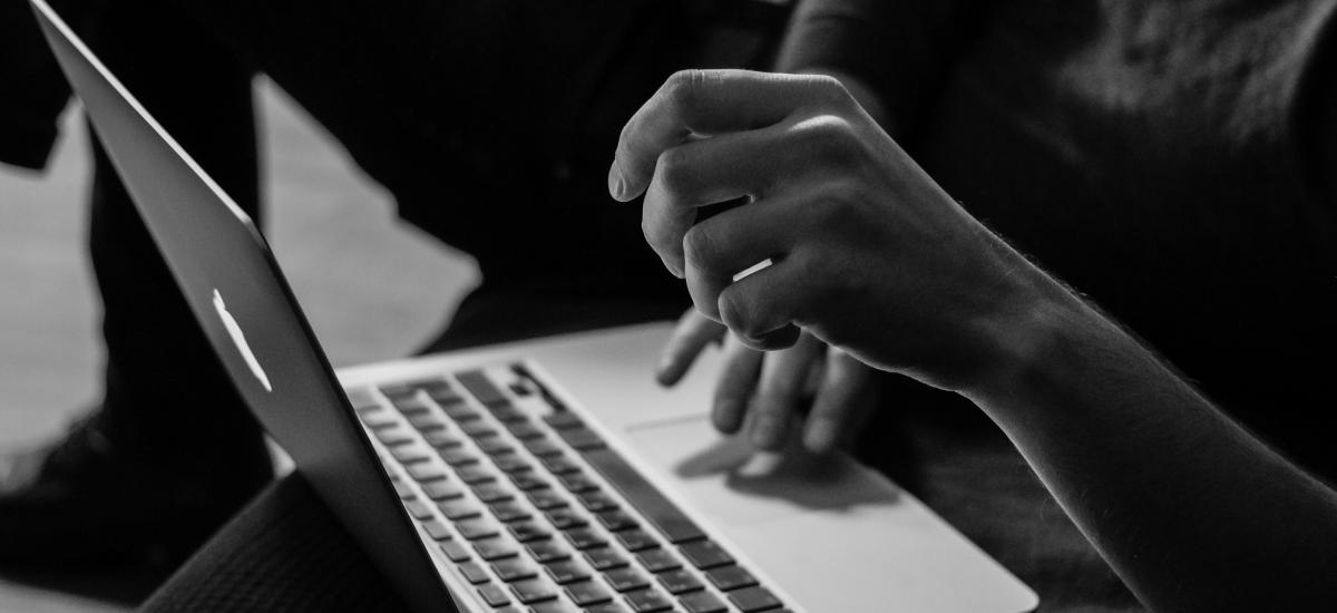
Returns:
[[[1034,304],[1034,268],[830,78],[679,72],[623,128],[608,185],[619,201],[646,194],[651,248],[698,311],[757,349],[796,345],[801,327],[959,389]],[[738,198],[750,203],[695,224]]]

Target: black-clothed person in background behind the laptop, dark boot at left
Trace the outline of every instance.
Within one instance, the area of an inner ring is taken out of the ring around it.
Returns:
[[[24,4],[0,5],[0,29],[12,33],[0,36],[0,159],[41,167],[70,90]],[[634,215],[578,203],[599,197],[619,118],[659,79],[681,66],[757,66],[773,55],[785,12],[767,7],[56,8],[255,220],[251,80],[265,72],[299,100],[392,191],[404,220],[476,257],[481,285],[445,336],[424,344],[444,349],[484,339],[484,316],[505,321],[504,336],[485,339],[504,340],[682,312],[674,284],[646,274],[654,258],[610,232]],[[527,189],[501,195],[505,185]],[[273,478],[269,455],[96,141],[90,250],[103,298],[104,398],[60,440],[0,456],[0,565],[147,558],[171,570]],[[626,282],[611,289],[606,278]]]

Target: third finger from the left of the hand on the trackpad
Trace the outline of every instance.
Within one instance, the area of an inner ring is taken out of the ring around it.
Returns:
[[[802,335],[794,347],[766,353],[757,395],[751,402],[751,442],[758,448],[777,450],[785,444],[789,426],[798,414],[802,387],[814,360],[825,345],[812,335]]]

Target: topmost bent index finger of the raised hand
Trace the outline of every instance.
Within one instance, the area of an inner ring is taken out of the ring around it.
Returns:
[[[838,82],[817,75],[678,72],[623,127],[608,169],[608,193],[622,202],[640,195],[650,185],[659,154],[694,135],[770,126],[808,103],[842,94]]]

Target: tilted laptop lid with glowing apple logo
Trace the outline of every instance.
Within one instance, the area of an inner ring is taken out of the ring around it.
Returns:
[[[44,0],[31,4],[195,320],[251,412],[414,610],[457,610],[251,220]]]

